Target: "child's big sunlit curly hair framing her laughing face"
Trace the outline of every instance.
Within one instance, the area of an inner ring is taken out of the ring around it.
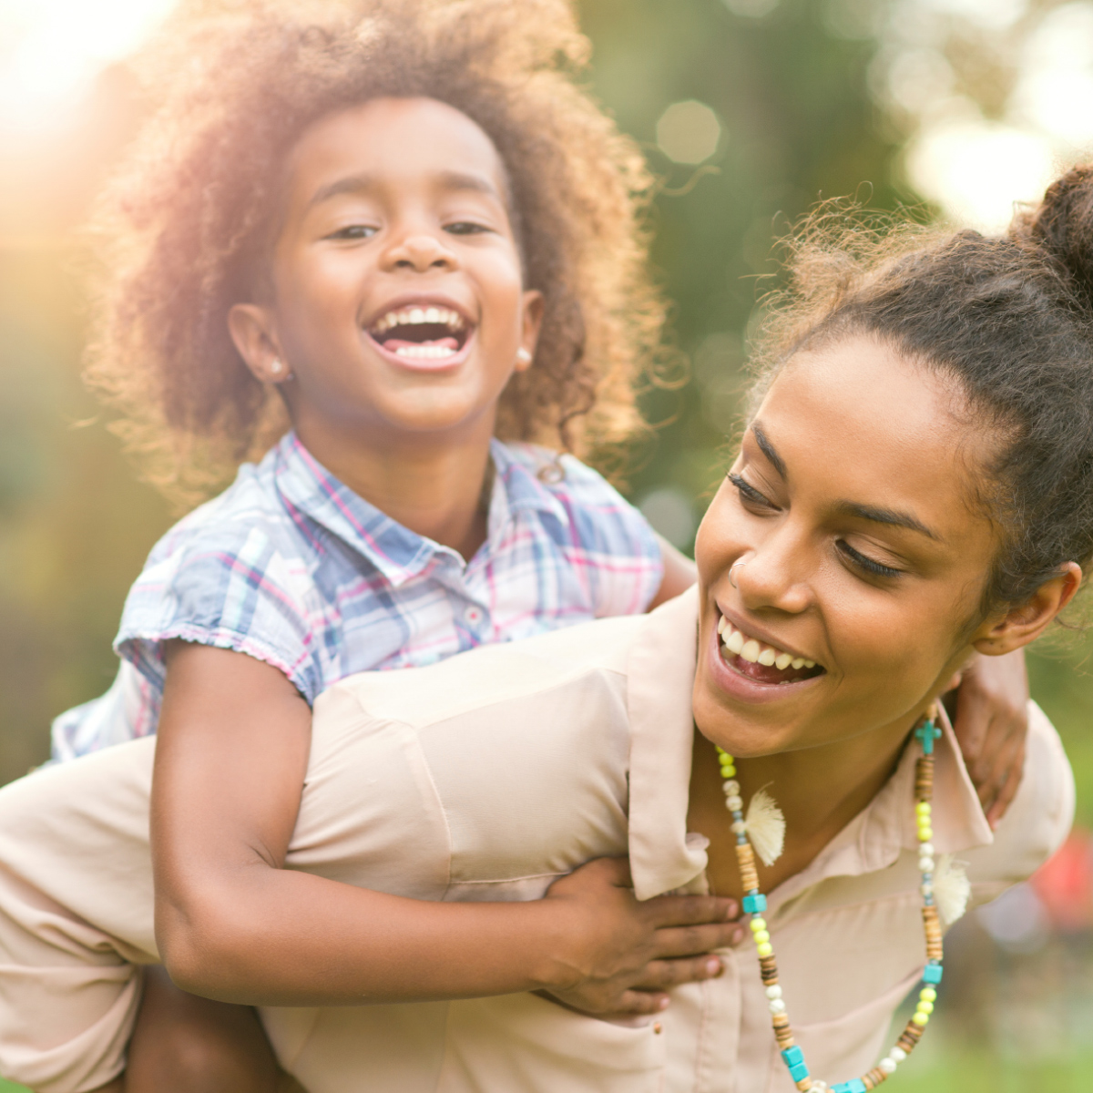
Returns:
[[[587,55],[565,0],[184,7],[144,58],[161,107],[92,225],[103,262],[86,377],[122,410],[114,427],[148,478],[192,502],[286,427],[226,315],[255,289],[295,142],[376,97],[454,106],[507,169],[527,285],[545,309],[498,435],[578,455],[632,435],[665,318],[646,266],[650,177],[575,84]]]

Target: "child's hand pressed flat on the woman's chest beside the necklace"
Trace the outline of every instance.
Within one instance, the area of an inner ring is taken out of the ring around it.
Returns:
[[[743,936],[734,900],[658,896],[638,902],[625,858],[599,858],[555,881],[546,902],[569,906],[568,955],[550,994],[586,1013],[658,1013],[666,988],[712,979],[721,962],[710,950]]]

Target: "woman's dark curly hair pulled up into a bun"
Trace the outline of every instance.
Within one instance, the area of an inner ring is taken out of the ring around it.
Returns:
[[[848,224],[849,219],[849,224]],[[955,381],[998,435],[976,500],[1002,531],[983,611],[1093,561],[1093,167],[1008,233],[939,232],[821,207],[788,240],[755,344],[757,402],[794,353],[867,334]],[[754,402],[753,402],[754,404]]]

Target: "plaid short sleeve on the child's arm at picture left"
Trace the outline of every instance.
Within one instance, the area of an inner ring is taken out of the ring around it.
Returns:
[[[179,542],[179,538],[184,541]],[[172,638],[234,649],[280,669],[307,698],[321,690],[308,619],[309,581],[260,524],[176,532],[126,599],[115,649],[157,690]]]

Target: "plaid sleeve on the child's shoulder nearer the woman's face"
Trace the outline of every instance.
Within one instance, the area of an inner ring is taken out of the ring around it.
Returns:
[[[571,524],[573,562],[586,571],[597,619],[639,614],[660,589],[663,555],[649,521],[608,481],[573,456],[548,489]]]

